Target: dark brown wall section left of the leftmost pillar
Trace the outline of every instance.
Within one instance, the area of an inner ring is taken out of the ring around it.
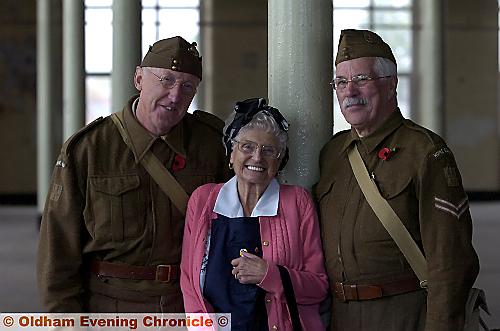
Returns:
[[[0,196],[36,191],[36,1],[0,1]]]

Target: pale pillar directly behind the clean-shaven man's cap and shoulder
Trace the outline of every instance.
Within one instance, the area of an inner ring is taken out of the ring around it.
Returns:
[[[116,112],[137,90],[135,67],[141,63],[141,1],[113,1],[113,71],[111,105]]]

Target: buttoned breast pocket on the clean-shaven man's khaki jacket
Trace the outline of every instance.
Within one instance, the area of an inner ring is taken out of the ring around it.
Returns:
[[[95,176],[89,182],[88,213],[92,215],[94,239],[122,242],[138,237],[145,218],[139,176]]]

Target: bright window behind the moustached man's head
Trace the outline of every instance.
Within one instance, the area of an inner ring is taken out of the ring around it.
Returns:
[[[412,0],[333,0],[334,58],[341,30],[368,29],[379,34],[398,63],[398,104],[405,117],[411,114],[412,15]],[[334,132],[348,128],[334,97]]]

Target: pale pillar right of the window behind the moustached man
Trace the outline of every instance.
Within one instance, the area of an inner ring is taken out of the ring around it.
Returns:
[[[420,20],[415,31],[417,54],[413,118],[419,124],[438,133],[444,133],[444,80],[443,80],[443,2],[421,0],[415,3]]]

